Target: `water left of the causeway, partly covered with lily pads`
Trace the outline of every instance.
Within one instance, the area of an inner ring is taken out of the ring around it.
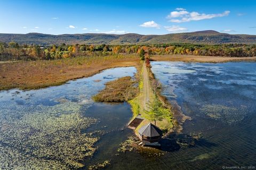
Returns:
[[[61,86],[1,91],[0,169],[26,169],[25,165],[43,169],[48,163],[60,168],[58,154],[66,151],[69,156],[69,152],[73,154],[71,150],[78,148],[79,151],[83,145],[79,143],[79,139],[84,138],[82,133],[100,138],[95,143],[94,156],[84,161],[86,166],[109,160],[119,143],[132,133],[122,130],[132,117],[130,105],[94,103],[91,98],[106,82],[132,77],[135,72],[135,67],[115,68]],[[83,130],[86,123],[83,117],[97,122]],[[51,146],[51,141],[55,146]],[[46,157],[47,145],[54,149],[48,151]]]

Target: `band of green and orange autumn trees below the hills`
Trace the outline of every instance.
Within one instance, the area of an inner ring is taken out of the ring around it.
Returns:
[[[51,45],[38,46],[18,44],[15,42],[0,42],[0,60],[55,60],[76,56],[106,56],[116,54],[144,53],[148,55],[197,55],[197,56],[225,56],[252,57],[256,56],[256,45],[223,44],[223,45],[195,45],[195,44],[155,44],[155,45]],[[143,59],[143,58],[141,58]]]

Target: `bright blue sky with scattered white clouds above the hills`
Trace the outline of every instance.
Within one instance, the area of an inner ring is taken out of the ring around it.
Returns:
[[[256,1],[0,0],[0,33],[140,33],[216,30],[256,35]]]

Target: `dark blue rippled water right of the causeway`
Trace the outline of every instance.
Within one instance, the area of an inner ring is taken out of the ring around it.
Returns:
[[[163,84],[163,95],[191,117],[182,134],[172,134],[162,157],[146,158],[127,152],[109,169],[256,168],[256,63],[151,62]],[[195,146],[179,148],[179,140],[203,137]],[[250,168],[250,167],[249,167]]]

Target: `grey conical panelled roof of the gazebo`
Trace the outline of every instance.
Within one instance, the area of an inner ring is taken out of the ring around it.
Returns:
[[[159,137],[163,134],[163,132],[154,124],[149,123],[148,125],[139,129],[139,134],[145,137]]]

